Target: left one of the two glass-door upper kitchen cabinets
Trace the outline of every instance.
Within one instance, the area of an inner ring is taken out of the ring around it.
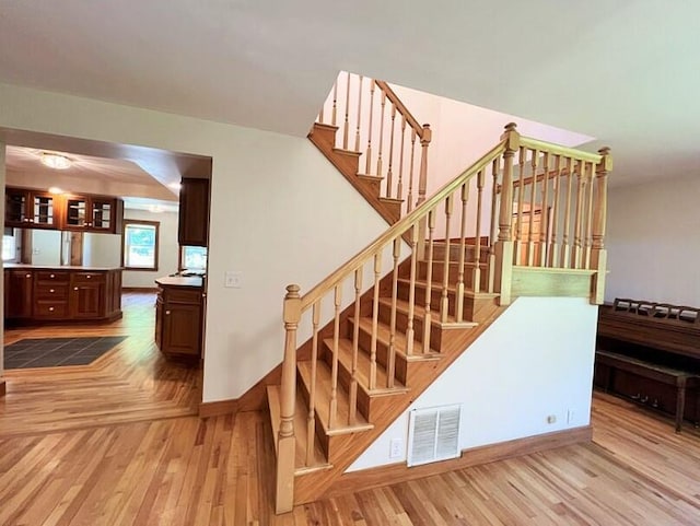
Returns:
[[[4,224],[24,229],[60,229],[61,199],[47,191],[5,188]]]

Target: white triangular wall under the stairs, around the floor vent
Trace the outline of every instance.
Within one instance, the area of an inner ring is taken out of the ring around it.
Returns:
[[[406,446],[412,409],[460,404],[460,449],[587,425],[596,323],[585,299],[517,299],[348,471],[406,461],[389,442]]]

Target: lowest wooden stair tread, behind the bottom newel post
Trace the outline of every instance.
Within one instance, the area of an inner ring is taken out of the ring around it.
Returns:
[[[277,437],[280,431],[280,386],[267,386],[267,400],[270,408],[270,420],[272,423],[272,442],[275,443],[275,453],[278,454]],[[329,469],[332,466],[326,460],[326,456],[318,443],[314,441],[313,459],[306,465],[306,441],[308,437],[306,405],[300,394],[296,395],[296,406],[294,408],[294,436],[296,437],[296,447],[294,451],[294,470],[296,475],[306,474],[319,469]]]

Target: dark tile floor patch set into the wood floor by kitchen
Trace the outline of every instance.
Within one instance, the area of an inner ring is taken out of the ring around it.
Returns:
[[[20,340],[4,348],[4,369],[88,365],[126,338],[126,336],[108,336]]]

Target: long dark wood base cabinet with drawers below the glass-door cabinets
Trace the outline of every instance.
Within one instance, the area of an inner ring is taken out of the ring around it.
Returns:
[[[15,325],[118,319],[121,269],[8,266],[4,308],[5,323]]]

